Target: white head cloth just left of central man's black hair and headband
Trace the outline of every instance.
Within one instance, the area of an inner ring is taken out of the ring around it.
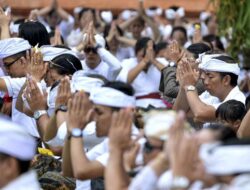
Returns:
[[[83,71],[77,71],[72,76],[71,89],[90,93],[94,88],[101,87],[104,81],[98,78],[88,77]]]

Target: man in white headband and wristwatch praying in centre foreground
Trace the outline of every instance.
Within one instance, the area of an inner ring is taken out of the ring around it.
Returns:
[[[83,150],[82,129],[85,128],[86,121],[88,120],[87,116],[90,113],[93,114],[96,121],[97,137],[105,137],[109,132],[112,113],[122,108],[134,107],[135,98],[133,96],[133,88],[122,82],[110,82],[101,88],[92,90],[89,100],[81,94],[82,92],[79,92],[73,98],[72,106],[74,106],[74,102],[80,104],[80,107],[83,106],[84,108],[81,108],[81,110],[85,110],[84,113],[78,114],[84,114],[85,117],[74,116],[74,107],[71,107],[71,101],[68,104],[67,127],[69,137],[66,139],[64,146],[63,172],[64,175],[73,173],[77,179],[86,180],[103,176],[109,155],[108,139],[87,153]],[[82,102],[77,103],[77,96],[79,96],[79,100],[82,99]],[[94,103],[92,109],[90,101]],[[75,122],[76,120],[84,122]],[[135,134],[138,131],[134,129],[132,133]],[[89,189],[89,181],[85,181],[84,183],[77,182],[77,188]]]

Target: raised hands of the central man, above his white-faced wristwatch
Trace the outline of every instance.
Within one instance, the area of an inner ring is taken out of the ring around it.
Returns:
[[[73,128],[84,129],[90,122],[93,114],[92,104],[84,92],[77,92],[73,98],[68,101],[67,128],[71,131]]]

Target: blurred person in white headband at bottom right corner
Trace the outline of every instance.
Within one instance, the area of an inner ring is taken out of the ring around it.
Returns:
[[[215,176],[218,189],[250,188],[249,140],[232,139],[224,144],[204,144],[200,158],[206,173]]]

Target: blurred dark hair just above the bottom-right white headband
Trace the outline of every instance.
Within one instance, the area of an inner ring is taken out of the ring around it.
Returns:
[[[218,141],[228,141],[229,139],[237,138],[236,132],[230,127],[225,127],[222,124],[211,124],[208,129],[217,132],[216,140]]]

